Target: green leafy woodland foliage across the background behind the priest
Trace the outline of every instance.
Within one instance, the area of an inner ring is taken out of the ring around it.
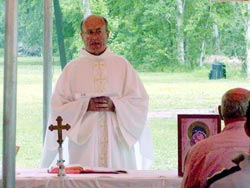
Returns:
[[[87,1],[87,0],[86,0]],[[0,22],[4,21],[4,1],[0,0]],[[105,16],[111,36],[109,46],[125,56],[138,70],[176,71],[199,66],[202,50],[205,56],[236,56],[246,61],[246,3],[212,0],[182,0],[181,35],[184,39],[185,65],[178,59],[177,0],[89,0],[91,12]],[[83,1],[60,1],[67,59],[78,56],[83,46],[80,22]],[[34,19],[35,18],[35,19]],[[21,0],[19,3],[19,39],[27,47],[42,47],[43,3]],[[218,28],[218,37],[215,34]],[[0,47],[3,47],[4,24],[0,24]],[[54,54],[58,55],[55,29]],[[219,50],[215,44],[219,41]],[[205,44],[203,49],[201,46]]]

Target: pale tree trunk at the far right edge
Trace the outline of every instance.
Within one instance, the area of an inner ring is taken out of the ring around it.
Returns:
[[[250,2],[247,3],[248,17],[246,20],[246,65],[247,65],[247,78],[250,78]]]

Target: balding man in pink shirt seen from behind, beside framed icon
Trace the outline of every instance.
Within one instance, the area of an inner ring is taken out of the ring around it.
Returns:
[[[227,91],[218,107],[224,130],[195,144],[188,152],[184,164],[182,188],[204,188],[208,177],[235,164],[231,159],[249,150],[245,134],[246,111],[250,91],[234,88]]]

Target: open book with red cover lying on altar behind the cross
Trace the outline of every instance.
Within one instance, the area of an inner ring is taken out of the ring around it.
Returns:
[[[80,165],[70,165],[64,168],[66,174],[122,174],[127,173],[125,170],[112,170],[108,168],[84,168]],[[58,166],[48,169],[48,173],[57,174]]]

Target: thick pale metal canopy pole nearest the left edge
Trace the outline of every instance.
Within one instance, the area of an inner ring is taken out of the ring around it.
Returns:
[[[18,0],[5,1],[2,187],[16,187],[16,94]]]

